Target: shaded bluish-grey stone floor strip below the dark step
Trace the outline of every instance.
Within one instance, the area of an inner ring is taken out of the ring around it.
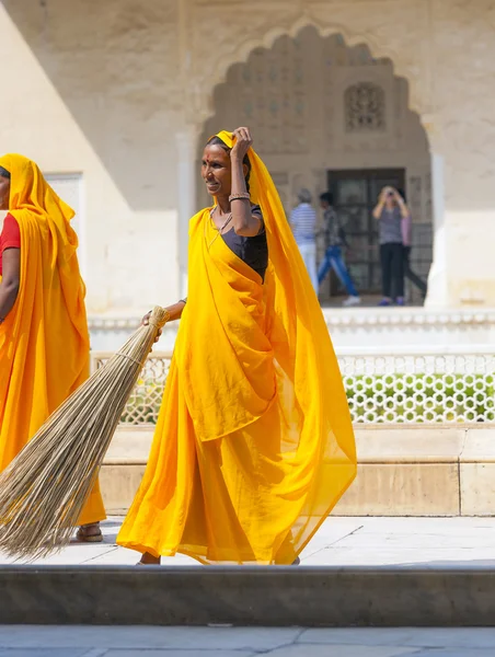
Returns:
[[[0,657],[493,657],[492,629],[0,626]]]

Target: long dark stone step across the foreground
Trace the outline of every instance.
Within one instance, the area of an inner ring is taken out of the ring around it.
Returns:
[[[0,566],[0,624],[493,626],[495,568]]]

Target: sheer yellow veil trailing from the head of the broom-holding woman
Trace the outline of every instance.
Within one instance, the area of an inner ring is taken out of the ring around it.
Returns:
[[[217,136],[233,147],[232,134]],[[299,462],[292,475],[304,491],[291,530],[300,552],[355,479],[356,447],[341,370],[308,270],[272,176],[253,149],[248,154],[251,199],[262,209],[268,242],[266,328],[279,403],[283,416],[296,420],[281,433],[281,451]]]

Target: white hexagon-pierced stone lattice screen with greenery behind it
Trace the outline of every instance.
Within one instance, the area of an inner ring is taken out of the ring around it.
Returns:
[[[108,358],[93,355],[93,368]],[[169,372],[169,354],[153,354],[122,422],[156,424]],[[339,356],[355,423],[495,422],[495,355]]]

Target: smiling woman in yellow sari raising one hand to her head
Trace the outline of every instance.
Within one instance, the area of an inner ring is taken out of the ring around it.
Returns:
[[[356,453],[329,332],[248,128],[211,138],[188,298],[148,466],[118,534],[141,564],[292,564]]]

